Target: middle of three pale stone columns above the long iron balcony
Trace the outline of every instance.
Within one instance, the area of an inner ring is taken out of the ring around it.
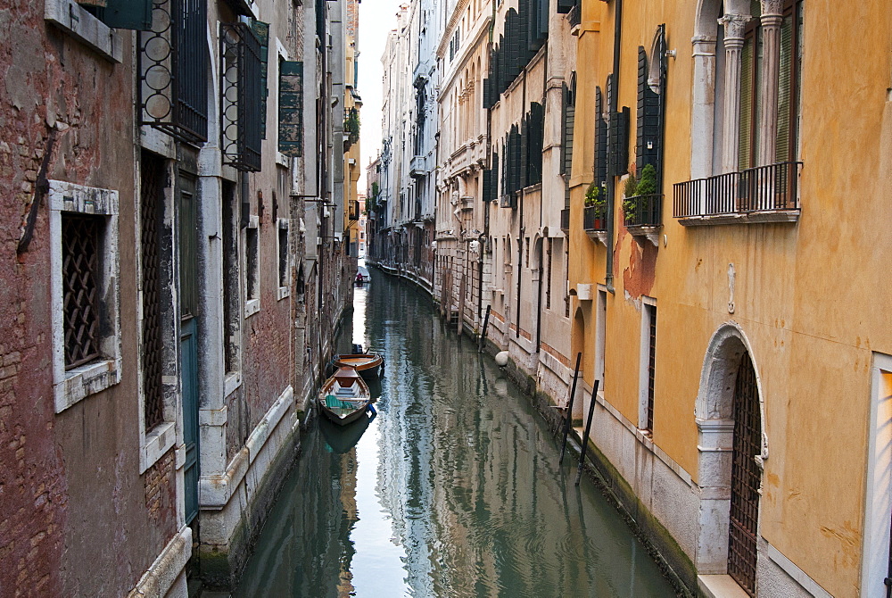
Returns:
[[[738,168],[740,137],[740,56],[743,51],[744,28],[750,17],[742,14],[726,14],[719,19],[724,27],[725,85],[722,171],[734,172]]]

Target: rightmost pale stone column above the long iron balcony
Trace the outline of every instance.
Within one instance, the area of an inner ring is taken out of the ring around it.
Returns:
[[[776,160],[778,133],[778,75],[780,71],[780,22],[783,21],[781,0],[762,0],[763,60],[760,65],[762,96],[759,110],[758,164],[765,166]]]

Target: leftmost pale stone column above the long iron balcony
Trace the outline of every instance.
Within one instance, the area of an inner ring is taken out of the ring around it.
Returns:
[[[715,37],[698,36],[691,42],[694,46],[694,105],[690,122],[693,141],[690,177],[706,179],[713,175]]]

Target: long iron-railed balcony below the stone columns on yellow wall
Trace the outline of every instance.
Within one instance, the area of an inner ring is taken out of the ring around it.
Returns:
[[[778,162],[673,187],[682,226],[796,222],[802,162]]]

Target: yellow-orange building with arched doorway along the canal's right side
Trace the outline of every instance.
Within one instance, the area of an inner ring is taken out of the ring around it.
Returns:
[[[705,595],[888,595],[892,4],[569,16],[572,355],[598,458]]]

